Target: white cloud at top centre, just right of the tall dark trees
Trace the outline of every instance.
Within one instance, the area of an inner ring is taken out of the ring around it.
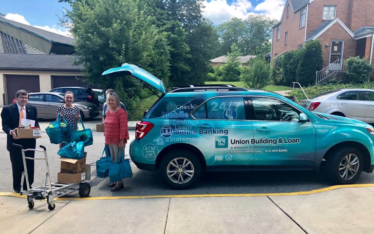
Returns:
[[[220,24],[234,17],[244,19],[248,17],[249,11],[253,8],[249,0],[235,0],[231,5],[227,4],[226,0],[211,0],[210,2],[205,0],[203,4],[205,6],[204,16],[214,24]]]

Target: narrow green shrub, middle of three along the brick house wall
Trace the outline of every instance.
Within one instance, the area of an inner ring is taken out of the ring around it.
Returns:
[[[297,80],[300,53],[297,50],[291,50],[281,56],[283,59],[282,71],[283,82],[282,85],[292,86],[292,82]]]

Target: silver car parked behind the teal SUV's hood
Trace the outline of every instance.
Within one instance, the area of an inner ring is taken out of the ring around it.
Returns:
[[[313,112],[349,117],[374,123],[374,90],[338,89],[328,91],[300,105]]]

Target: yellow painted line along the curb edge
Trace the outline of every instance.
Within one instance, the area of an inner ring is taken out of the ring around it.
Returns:
[[[114,199],[139,199],[139,198],[178,198],[178,197],[229,197],[229,196],[293,196],[293,195],[310,195],[318,194],[327,191],[332,191],[342,188],[363,188],[374,187],[374,184],[348,184],[348,185],[334,185],[322,189],[315,189],[310,191],[300,191],[292,193],[270,193],[270,194],[195,194],[195,195],[148,195],[148,196],[100,196],[100,197],[58,197],[56,201],[66,200],[114,200]],[[16,193],[0,193],[0,196],[13,196],[20,198],[27,198],[26,195],[19,195]]]

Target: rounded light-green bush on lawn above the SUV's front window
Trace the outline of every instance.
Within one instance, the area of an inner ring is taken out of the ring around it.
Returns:
[[[245,87],[262,89],[269,84],[271,75],[270,64],[262,57],[254,59],[248,67],[242,67],[240,79]]]

